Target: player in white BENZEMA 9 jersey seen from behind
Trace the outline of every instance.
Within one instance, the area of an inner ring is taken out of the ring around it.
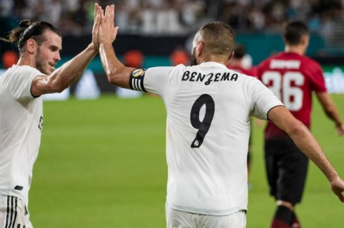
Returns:
[[[99,26],[100,57],[112,84],[158,94],[167,110],[168,228],[244,228],[250,115],[269,119],[290,135],[322,170],[344,202],[344,181],[314,136],[258,79],[229,70],[234,31],[222,22],[201,27],[191,67],[147,70],[121,64],[112,46],[114,5]]]

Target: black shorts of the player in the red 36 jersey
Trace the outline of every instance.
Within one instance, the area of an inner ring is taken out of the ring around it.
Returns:
[[[308,169],[308,158],[290,138],[265,140],[265,166],[270,194],[276,200],[300,203]]]

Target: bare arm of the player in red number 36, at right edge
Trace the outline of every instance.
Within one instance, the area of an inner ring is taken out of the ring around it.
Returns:
[[[332,101],[330,95],[327,92],[317,92],[315,94],[327,117],[335,123],[338,135],[343,135],[344,124],[341,120],[338,109],[335,103]]]

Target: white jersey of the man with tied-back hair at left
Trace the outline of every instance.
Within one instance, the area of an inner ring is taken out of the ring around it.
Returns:
[[[13,65],[0,76],[0,195],[26,205],[43,127],[42,98],[30,92],[38,75],[35,68]]]

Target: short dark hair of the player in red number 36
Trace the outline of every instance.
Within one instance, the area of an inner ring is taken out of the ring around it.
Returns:
[[[301,42],[301,37],[308,35],[308,26],[301,21],[291,21],[287,23],[284,29],[284,40],[288,45],[298,45]]]

